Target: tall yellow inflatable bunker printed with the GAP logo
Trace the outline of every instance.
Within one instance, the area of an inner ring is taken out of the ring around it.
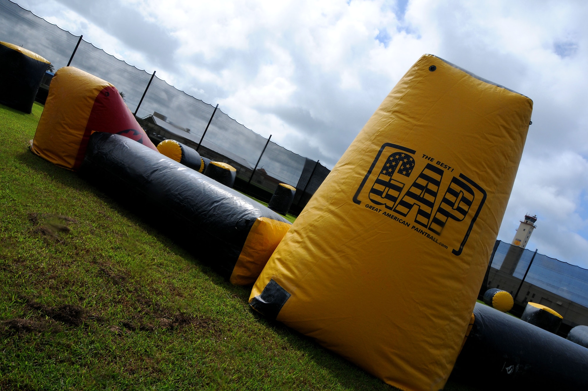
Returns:
[[[280,242],[250,305],[390,385],[442,389],[532,105],[443,59],[421,57]]]

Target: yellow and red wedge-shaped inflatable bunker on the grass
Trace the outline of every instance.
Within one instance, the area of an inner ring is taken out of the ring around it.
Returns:
[[[78,68],[58,69],[31,151],[75,171],[97,131],[121,134],[157,151],[112,84]]]

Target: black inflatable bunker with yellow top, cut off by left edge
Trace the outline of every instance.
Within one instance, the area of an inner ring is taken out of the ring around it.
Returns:
[[[0,42],[0,104],[29,114],[49,64],[30,50]]]

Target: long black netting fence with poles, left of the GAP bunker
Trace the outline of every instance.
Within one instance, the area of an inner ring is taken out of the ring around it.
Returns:
[[[42,55],[57,70],[68,64],[79,37],[9,0],[0,0],[0,41]],[[153,141],[173,138],[192,147],[199,146],[204,157],[233,165],[238,176],[236,188],[260,200],[269,201],[278,184],[287,183],[296,186],[292,212],[299,213],[329,173],[328,168],[316,161],[272,141],[265,148],[266,138],[239,124],[220,108],[215,112],[213,105],[176,89],[157,75],[139,105],[152,75],[83,39],[79,41],[71,66],[115,85],[124,94],[129,109],[136,111],[139,123]],[[199,145],[208,124],[208,131]]]

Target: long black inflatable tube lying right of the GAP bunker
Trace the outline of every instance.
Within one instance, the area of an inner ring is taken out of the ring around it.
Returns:
[[[476,303],[452,377],[483,389],[583,390],[588,349]]]

